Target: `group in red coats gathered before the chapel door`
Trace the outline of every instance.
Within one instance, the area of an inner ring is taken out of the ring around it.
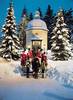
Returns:
[[[34,50],[28,50],[27,53],[23,51],[21,53],[21,66],[23,72],[26,69],[26,77],[30,77],[30,67],[32,67],[32,76],[38,78],[39,70],[41,71],[42,78],[44,78],[45,69],[47,68],[47,56],[45,52],[40,49],[37,52]]]

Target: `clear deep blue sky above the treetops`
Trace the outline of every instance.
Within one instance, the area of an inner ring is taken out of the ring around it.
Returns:
[[[0,28],[5,22],[9,2],[10,0],[0,0]],[[38,9],[38,7],[40,7],[42,12],[45,13],[48,4],[51,5],[55,13],[60,8],[64,8],[66,10],[69,8],[73,8],[73,0],[13,0],[13,2],[17,24],[20,22],[21,13],[24,7],[27,8],[28,13],[32,12],[33,14]]]

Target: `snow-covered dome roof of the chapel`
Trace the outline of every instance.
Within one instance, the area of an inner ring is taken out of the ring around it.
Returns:
[[[42,29],[48,31],[46,23],[39,18],[33,19],[28,23],[26,30],[33,29]]]

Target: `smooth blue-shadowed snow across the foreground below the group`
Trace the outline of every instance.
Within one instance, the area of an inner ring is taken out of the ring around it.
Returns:
[[[73,89],[47,79],[0,79],[0,100],[73,100]]]

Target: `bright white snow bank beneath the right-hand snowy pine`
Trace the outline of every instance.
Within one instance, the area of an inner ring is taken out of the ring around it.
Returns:
[[[68,61],[53,61],[51,60],[51,52],[48,51],[48,68],[57,68],[60,72],[73,73],[73,59]]]

